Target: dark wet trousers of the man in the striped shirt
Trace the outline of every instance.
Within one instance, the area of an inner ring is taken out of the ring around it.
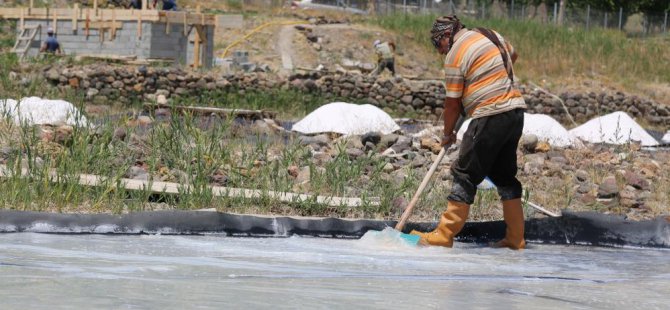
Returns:
[[[451,167],[454,185],[448,199],[472,204],[477,185],[488,176],[501,200],[521,198],[516,149],[523,131],[523,109],[473,119]]]

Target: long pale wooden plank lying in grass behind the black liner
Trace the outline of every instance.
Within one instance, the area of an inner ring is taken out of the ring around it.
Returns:
[[[21,169],[21,177],[27,177],[30,174],[28,169]],[[10,178],[14,175],[5,165],[0,165],[0,177]],[[59,183],[64,182],[55,170],[51,170],[49,173],[49,182]],[[172,194],[172,195],[181,195],[189,194],[194,189],[188,184],[180,184],[174,182],[153,182],[153,181],[144,181],[144,180],[133,180],[127,178],[119,178],[118,182],[121,187],[126,190],[140,190],[140,191],[151,191],[156,194]],[[110,179],[108,177],[93,175],[93,174],[80,174],[77,183],[82,186],[115,186],[116,180]],[[212,194],[217,197],[230,197],[230,198],[247,198],[247,199],[259,199],[264,197],[269,197],[274,200],[287,203],[300,203],[300,202],[312,202],[316,201],[319,204],[324,204],[328,206],[348,206],[348,207],[358,207],[362,206],[365,202],[360,198],[350,198],[350,197],[334,197],[334,196],[317,196],[317,195],[307,195],[299,193],[289,193],[289,192],[277,192],[277,191],[263,191],[257,189],[246,189],[246,188],[235,188],[235,187],[223,187],[223,186],[207,186],[209,190],[212,191]],[[367,204],[377,206],[379,205],[379,198],[370,198],[367,201]]]

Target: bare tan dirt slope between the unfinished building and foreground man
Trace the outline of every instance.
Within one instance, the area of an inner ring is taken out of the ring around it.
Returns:
[[[284,25],[300,18],[247,17],[242,29],[219,29],[215,36],[215,55],[222,57],[230,44],[244,37],[256,27],[269,22],[276,24],[267,26],[250,36],[241,44],[230,49],[249,52],[249,60],[257,64],[267,64],[273,72],[283,68],[282,53],[289,53],[295,70],[314,69],[319,65],[328,70],[335,70],[344,59],[362,63],[376,64],[376,56],[372,43],[379,39],[393,41],[397,46],[396,71],[406,77],[437,78],[440,76],[440,56],[424,47],[410,44],[410,38],[394,34],[373,25],[354,24],[342,20],[336,24],[310,24],[308,21],[301,26],[311,30],[319,38],[318,46],[307,39],[310,31],[300,31],[295,25]],[[282,32],[284,32],[282,34]],[[289,39],[282,37],[289,36]],[[288,45],[288,46],[287,46]],[[230,55],[227,55],[230,57]]]

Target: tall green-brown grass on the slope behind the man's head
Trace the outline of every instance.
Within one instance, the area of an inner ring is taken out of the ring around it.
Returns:
[[[432,49],[429,33],[434,15],[378,17],[371,22],[404,33]],[[628,38],[615,30],[566,28],[506,19],[463,22],[486,27],[508,38],[519,53],[515,66],[522,78],[539,80],[604,76],[621,84],[670,83],[670,40],[667,36]]]

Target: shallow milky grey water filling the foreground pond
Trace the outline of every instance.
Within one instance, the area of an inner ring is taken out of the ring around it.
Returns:
[[[2,309],[667,309],[670,251],[0,234]],[[355,307],[355,308],[354,308]]]

